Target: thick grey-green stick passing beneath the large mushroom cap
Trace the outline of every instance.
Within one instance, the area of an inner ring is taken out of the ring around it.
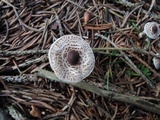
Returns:
[[[55,76],[54,73],[43,70],[43,69],[37,69],[36,74],[37,74],[37,76],[48,78],[51,81],[54,80],[57,82],[63,82],[63,81],[59,80]],[[78,87],[80,89],[90,91],[90,92],[97,94],[99,96],[102,96],[102,97],[107,97],[112,100],[116,100],[116,101],[120,101],[120,102],[124,102],[124,103],[129,103],[129,104],[135,105],[137,107],[141,107],[142,109],[144,109],[146,111],[150,111],[150,112],[153,112],[153,113],[160,115],[160,106],[158,104],[155,104],[156,102],[155,103],[149,102],[149,101],[142,99],[141,97],[137,97],[137,96],[123,95],[123,94],[119,94],[116,92],[103,90],[103,89],[100,89],[96,86],[90,85],[85,82],[78,82],[78,83],[74,83],[71,85]],[[157,103],[159,103],[159,102],[157,102]]]

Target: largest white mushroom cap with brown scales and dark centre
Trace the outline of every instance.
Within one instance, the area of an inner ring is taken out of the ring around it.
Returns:
[[[77,35],[64,35],[50,47],[49,63],[55,75],[67,83],[83,80],[94,69],[95,57],[90,45]]]

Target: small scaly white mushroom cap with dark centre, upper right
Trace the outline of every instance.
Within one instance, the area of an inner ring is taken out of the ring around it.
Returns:
[[[148,22],[144,26],[144,33],[151,39],[156,39],[160,35],[160,28],[156,22]]]

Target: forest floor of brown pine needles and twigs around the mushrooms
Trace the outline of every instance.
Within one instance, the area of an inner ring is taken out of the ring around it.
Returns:
[[[0,107],[16,120],[159,120],[159,38],[140,37],[160,23],[155,0],[1,0]],[[57,79],[48,50],[81,36],[96,64],[82,82]]]

